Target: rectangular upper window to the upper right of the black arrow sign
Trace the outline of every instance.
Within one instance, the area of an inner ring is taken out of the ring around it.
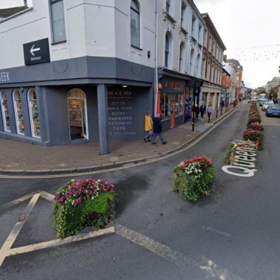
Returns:
[[[66,33],[63,0],[51,0],[50,8],[52,15],[52,42],[64,42]]]

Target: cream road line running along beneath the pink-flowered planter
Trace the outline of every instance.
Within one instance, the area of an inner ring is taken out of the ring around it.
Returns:
[[[115,232],[115,228],[113,226],[111,226],[110,228],[104,228],[99,231],[91,231],[90,233],[81,233],[81,234],[78,234],[75,236],[69,236],[68,238],[64,238],[64,239],[50,240],[50,241],[37,243],[37,244],[33,244],[33,245],[17,247],[17,248],[8,250],[6,257],[23,254],[26,252],[33,252],[36,250],[41,250],[41,249],[45,249],[45,248],[49,248],[49,247],[55,247],[55,246],[64,245],[64,244],[68,244],[68,243],[73,243],[73,242],[77,242],[77,241],[81,241],[81,240],[86,240],[89,238],[95,238],[100,235],[105,235],[105,234],[114,233],[114,232]]]

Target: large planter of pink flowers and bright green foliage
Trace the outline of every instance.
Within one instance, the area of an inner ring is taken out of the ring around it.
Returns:
[[[85,226],[103,228],[115,209],[114,186],[107,181],[72,179],[54,197],[54,227],[64,238]]]

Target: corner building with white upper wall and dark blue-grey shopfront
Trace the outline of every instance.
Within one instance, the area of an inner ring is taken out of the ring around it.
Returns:
[[[99,141],[101,153],[139,137],[153,110],[155,15],[146,0],[33,0],[0,21],[0,137]]]

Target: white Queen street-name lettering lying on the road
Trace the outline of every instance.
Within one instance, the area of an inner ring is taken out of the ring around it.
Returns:
[[[239,146],[236,148],[233,165],[223,166],[221,168],[223,172],[239,177],[252,177],[255,175],[257,171],[257,169],[255,169],[257,149],[254,144],[248,144],[247,141],[238,141],[238,144],[243,143],[246,144],[246,146]],[[235,170],[235,172],[233,170]]]

